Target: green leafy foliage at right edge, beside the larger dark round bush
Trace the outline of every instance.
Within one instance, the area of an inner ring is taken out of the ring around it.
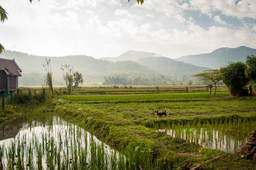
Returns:
[[[247,78],[256,82],[256,55],[251,55],[246,57],[247,69],[245,74]]]

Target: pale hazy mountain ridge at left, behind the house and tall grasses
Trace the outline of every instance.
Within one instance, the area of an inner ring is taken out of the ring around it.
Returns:
[[[0,55],[1,58],[15,58],[15,61],[22,69],[21,85],[40,85],[43,83],[45,70],[43,63],[45,57],[29,55],[26,53],[13,52],[5,50]],[[60,84],[62,81],[62,73],[60,71],[61,64],[70,64],[75,71],[83,74],[85,82],[100,82],[105,76],[130,74],[137,76],[156,75],[157,73],[146,66],[132,61],[110,62],[98,60],[85,55],[74,55],[64,57],[50,57],[54,82]],[[38,80],[36,80],[37,78]],[[32,81],[33,80],[33,81]],[[31,82],[31,83],[30,83]],[[36,82],[36,84],[34,84]]]

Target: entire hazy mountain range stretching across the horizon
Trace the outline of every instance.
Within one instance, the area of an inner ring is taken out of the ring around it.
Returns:
[[[211,53],[188,55],[175,60],[156,53],[130,50],[118,57],[93,58],[86,55],[50,57],[54,82],[61,84],[61,64],[70,64],[75,71],[83,74],[85,82],[102,82],[104,77],[120,75],[123,77],[157,78],[165,76],[175,80],[190,79],[191,75],[204,70],[219,69],[228,62],[242,61],[246,55],[256,54],[256,49],[241,46],[237,48],[219,48]],[[29,55],[5,50],[2,58],[15,58],[23,70],[20,85],[40,85],[45,70],[44,56]]]

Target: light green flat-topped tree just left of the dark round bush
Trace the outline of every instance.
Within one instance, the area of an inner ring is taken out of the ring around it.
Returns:
[[[201,80],[203,80],[204,83],[208,85],[211,85],[210,83],[213,83],[215,87],[214,95],[216,95],[216,85],[220,80],[222,80],[222,74],[219,70],[206,70],[203,73],[195,74],[193,76],[201,78]]]

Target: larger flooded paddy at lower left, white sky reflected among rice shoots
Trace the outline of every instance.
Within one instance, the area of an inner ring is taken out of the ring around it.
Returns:
[[[30,121],[2,130],[0,169],[110,169],[125,164],[124,156],[58,117],[51,123]]]

